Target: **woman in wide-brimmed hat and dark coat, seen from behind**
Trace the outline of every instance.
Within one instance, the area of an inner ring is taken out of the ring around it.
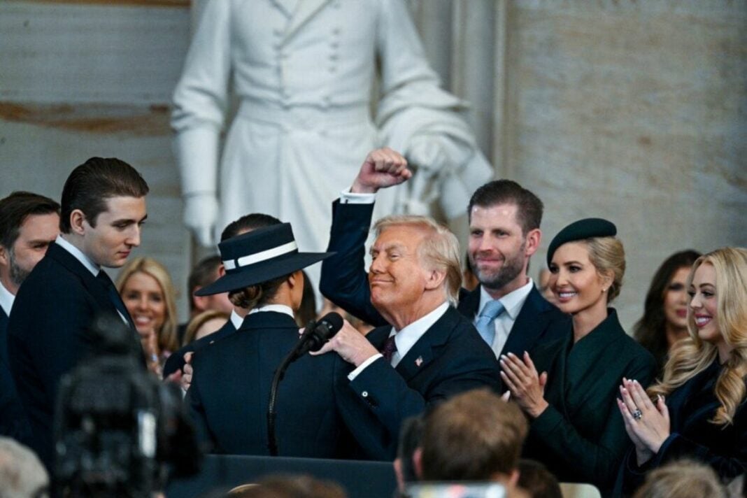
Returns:
[[[338,403],[338,379],[350,370],[337,355],[303,355],[288,367],[268,423],[270,386],[283,358],[299,343],[294,312],[303,298],[302,268],[330,253],[299,252],[291,225],[258,228],[220,243],[226,274],[198,290],[229,292],[250,309],[235,332],[195,352],[186,403],[211,452],[341,458],[350,435]],[[275,435],[276,447],[270,444]]]

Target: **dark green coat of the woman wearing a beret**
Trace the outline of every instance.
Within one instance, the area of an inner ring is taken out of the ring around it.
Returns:
[[[625,334],[616,311],[577,343],[568,328],[560,340],[538,346],[533,361],[548,372],[550,404],[532,421],[524,457],[541,461],[558,480],[591,482],[607,496],[630,439],[615,399],[622,378],[648,386],[654,357]]]

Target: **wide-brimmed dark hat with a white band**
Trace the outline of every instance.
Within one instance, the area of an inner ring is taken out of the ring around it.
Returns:
[[[298,252],[290,223],[258,228],[218,244],[226,275],[195,292],[210,296],[261,284],[322,261],[334,252]]]

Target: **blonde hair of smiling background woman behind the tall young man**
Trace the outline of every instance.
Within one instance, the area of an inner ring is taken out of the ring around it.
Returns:
[[[161,330],[157,331],[158,349],[161,352],[176,351],[176,349],[179,349],[179,339],[176,337],[176,290],[168,270],[153,258],[143,258],[142,256],[133,258],[122,267],[119,275],[117,275],[117,292],[122,293],[125,282],[134,273],[145,273],[152,276],[161,287],[166,303],[166,316],[164,317],[164,325]]]

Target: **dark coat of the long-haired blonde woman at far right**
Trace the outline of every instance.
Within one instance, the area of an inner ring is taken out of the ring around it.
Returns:
[[[680,458],[702,461],[724,481],[747,472],[747,402],[737,407],[733,424],[716,426],[709,422],[720,405],[713,389],[721,370],[718,360],[713,361],[667,396],[669,438],[642,467],[638,467],[635,451],[630,449],[622,465],[622,494],[633,494],[648,471]],[[619,491],[619,483],[617,488]]]

